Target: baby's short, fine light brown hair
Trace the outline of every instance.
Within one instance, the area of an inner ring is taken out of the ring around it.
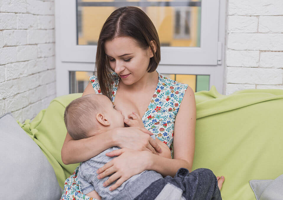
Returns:
[[[96,113],[103,108],[95,94],[89,94],[72,100],[65,108],[64,122],[66,129],[73,139],[87,138],[88,132],[97,125]]]

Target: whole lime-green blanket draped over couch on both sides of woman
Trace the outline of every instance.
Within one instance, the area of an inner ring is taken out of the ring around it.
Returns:
[[[77,164],[64,165],[61,148],[66,136],[64,110],[82,93],[55,98],[30,122],[20,124],[53,166],[59,185]],[[253,179],[282,174],[283,90],[241,90],[221,95],[214,86],[195,93],[196,149],[193,170],[209,168],[225,176],[222,199],[255,199]]]

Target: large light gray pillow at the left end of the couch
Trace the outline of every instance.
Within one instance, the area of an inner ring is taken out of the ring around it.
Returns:
[[[0,137],[0,199],[60,199],[51,164],[11,112],[0,116]]]

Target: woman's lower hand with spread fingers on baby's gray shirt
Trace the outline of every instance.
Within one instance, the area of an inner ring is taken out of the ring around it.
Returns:
[[[135,151],[128,148],[122,148],[106,153],[107,156],[113,157],[111,161],[107,162],[102,168],[99,168],[96,173],[98,179],[111,175],[107,181],[103,183],[103,186],[108,186],[113,181],[117,180],[109,190],[115,190],[122,185],[130,177],[139,174],[146,170],[150,163],[149,152],[147,151]]]

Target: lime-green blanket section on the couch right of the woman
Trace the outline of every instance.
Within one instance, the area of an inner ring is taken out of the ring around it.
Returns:
[[[221,95],[196,92],[193,170],[225,176],[223,199],[255,199],[253,179],[283,173],[283,90],[241,90]]]

